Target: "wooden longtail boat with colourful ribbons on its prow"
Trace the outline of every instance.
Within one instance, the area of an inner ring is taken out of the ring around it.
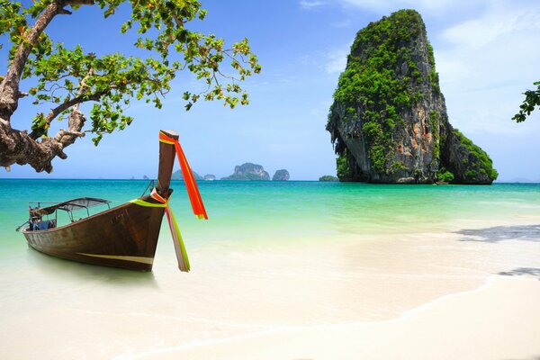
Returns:
[[[151,271],[161,222],[166,214],[175,242],[178,267],[187,272],[190,265],[184,241],[168,205],[173,193],[169,185],[175,155],[184,174],[193,213],[199,219],[208,219],[193,173],[178,142],[178,134],[173,130],[161,130],[157,184],[149,194],[143,193],[135,200],[93,215],[89,208],[109,207],[109,201],[85,197],[47,206],[42,206],[43,202],[33,202],[29,206],[30,219],[19,229],[30,247],[53,257],[98,266]],[[76,210],[86,210],[87,216],[77,220],[78,216],[73,215]],[[70,222],[58,226],[58,211],[66,211]],[[50,219],[52,215],[54,219]]]

